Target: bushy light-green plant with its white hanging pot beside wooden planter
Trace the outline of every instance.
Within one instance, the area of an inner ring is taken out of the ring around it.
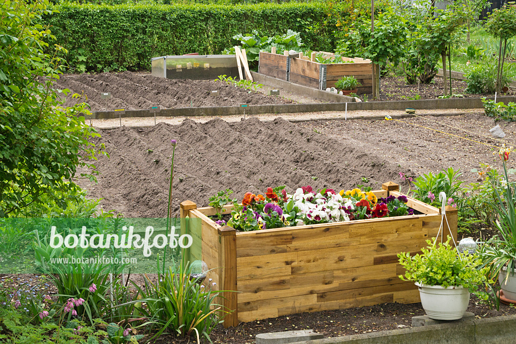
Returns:
[[[399,263],[406,269],[405,276],[399,278],[415,282],[423,309],[432,319],[461,319],[470,303],[470,293],[480,294],[480,285],[492,283],[486,277],[489,268],[479,268],[480,257],[476,253],[458,253],[450,246],[450,239],[448,236],[439,245],[427,240],[429,246],[421,254],[398,254]]]

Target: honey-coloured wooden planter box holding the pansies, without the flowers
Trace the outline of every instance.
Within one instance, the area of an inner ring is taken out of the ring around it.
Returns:
[[[397,197],[398,190],[397,184],[384,183],[374,193]],[[438,233],[441,214],[410,197],[407,204],[423,214],[236,233],[208,218],[214,208],[197,209],[185,201],[181,218],[200,219],[187,228],[194,240],[202,240],[200,251],[187,253],[190,260],[206,262],[218,290],[238,291],[224,291],[220,300],[234,311],[224,325],[236,326],[301,312],[420,302],[414,283],[398,278],[405,271],[397,254],[426,247]],[[457,239],[457,210],[447,206],[446,215]]]

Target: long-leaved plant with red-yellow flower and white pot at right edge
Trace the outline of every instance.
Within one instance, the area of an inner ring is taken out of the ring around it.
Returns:
[[[516,184],[509,182],[506,161],[512,147],[505,144],[497,152],[504,165],[502,180],[493,181],[493,191],[496,202],[493,208],[496,210],[495,219],[499,235],[491,237],[480,249],[479,254],[484,265],[490,268],[491,276],[498,275],[500,297],[516,303]]]

